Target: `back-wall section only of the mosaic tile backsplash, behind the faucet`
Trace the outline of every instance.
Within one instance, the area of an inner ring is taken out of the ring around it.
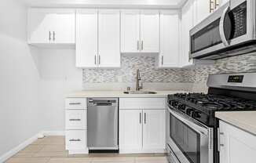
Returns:
[[[188,82],[192,78],[191,70],[156,68],[153,56],[122,56],[119,69],[83,69],[83,82],[135,82],[137,69],[143,82]]]

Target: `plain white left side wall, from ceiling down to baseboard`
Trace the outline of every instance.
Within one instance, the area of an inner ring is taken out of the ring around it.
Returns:
[[[0,162],[6,152],[42,130],[37,49],[26,42],[27,9],[0,4]]]

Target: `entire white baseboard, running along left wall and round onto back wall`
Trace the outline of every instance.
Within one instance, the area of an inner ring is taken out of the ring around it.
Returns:
[[[29,144],[33,143],[36,139],[38,139],[39,135],[43,136],[64,136],[64,131],[42,131],[38,132],[35,136],[32,136],[31,138],[25,140],[23,143],[20,143],[18,146],[14,147],[12,150],[9,150],[2,156],[0,156],[0,163],[8,160],[9,158],[13,157],[16,153],[18,153],[20,150],[23,150],[25,147],[27,147]]]

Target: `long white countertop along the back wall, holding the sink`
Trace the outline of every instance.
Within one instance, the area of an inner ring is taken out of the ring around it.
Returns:
[[[76,91],[68,93],[67,97],[166,97],[169,94],[185,91],[153,91],[156,94],[125,94],[123,91]]]

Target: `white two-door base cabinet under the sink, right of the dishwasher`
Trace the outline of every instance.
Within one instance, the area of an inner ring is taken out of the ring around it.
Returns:
[[[166,100],[120,98],[119,103],[120,153],[164,152]],[[155,107],[157,104],[153,103],[159,103],[159,107]]]

